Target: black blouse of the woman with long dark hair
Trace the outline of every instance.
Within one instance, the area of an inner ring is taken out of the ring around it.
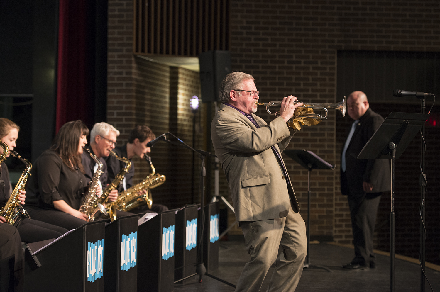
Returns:
[[[53,201],[64,200],[75,210],[81,206],[87,179],[75,171],[53,151],[46,150],[34,162],[26,184],[26,204],[55,209]]]

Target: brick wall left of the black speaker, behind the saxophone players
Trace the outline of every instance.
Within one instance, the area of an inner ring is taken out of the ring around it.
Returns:
[[[117,145],[127,142],[134,125],[146,124],[156,135],[171,131],[193,146],[193,113],[189,100],[193,95],[200,95],[198,73],[133,55],[132,22],[131,0],[109,1],[107,122],[121,131]],[[202,144],[200,120],[202,113],[196,117],[196,148],[201,148]],[[152,191],[154,203],[169,208],[191,204],[191,151],[165,142],[158,142],[151,150],[156,172],[167,177],[162,186]],[[197,159],[194,159],[195,202],[199,187]],[[146,161],[134,158],[133,165],[133,183],[150,173]]]

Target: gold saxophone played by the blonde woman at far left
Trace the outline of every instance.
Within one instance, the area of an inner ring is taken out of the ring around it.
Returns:
[[[9,148],[7,150],[9,150]],[[26,165],[25,170],[22,172],[22,175],[18,179],[18,183],[15,185],[15,188],[9,197],[9,200],[7,200],[6,205],[0,209],[0,216],[6,218],[6,223],[15,225],[15,223],[18,223],[17,219],[19,217],[27,217],[30,219],[28,212],[26,212],[26,210],[22,207],[22,204],[20,204],[18,197],[20,195],[20,190],[25,190],[27,179],[31,175],[30,170],[32,169],[32,164],[30,164],[25,158],[18,155],[18,153],[14,150],[11,150],[10,153],[13,157],[20,159]]]

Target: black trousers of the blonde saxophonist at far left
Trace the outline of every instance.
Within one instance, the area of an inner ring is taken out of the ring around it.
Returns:
[[[16,226],[22,241],[26,243],[58,238],[65,234],[66,228],[34,219],[22,219]]]

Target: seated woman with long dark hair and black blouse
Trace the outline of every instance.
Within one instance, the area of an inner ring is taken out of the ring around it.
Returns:
[[[88,183],[81,164],[88,133],[81,120],[67,122],[34,162],[26,187],[26,210],[32,218],[67,229],[86,223],[87,216],[78,209]]]

